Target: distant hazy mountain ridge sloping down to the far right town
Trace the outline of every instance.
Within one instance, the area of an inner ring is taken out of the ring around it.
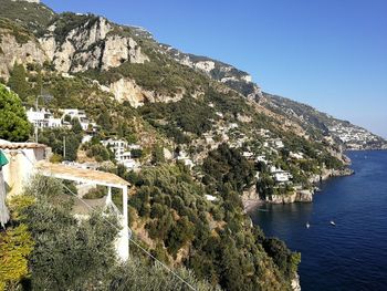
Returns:
[[[252,82],[251,75],[230,64],[184,53],[167,44],[161,44],[160,48],[179,63],[205,72],[209,77],[227,84],[247,98],[254,100],[265,108],[297,123],[305,131],[318,131],[331,135],[346,149],[387,148],[387,142],[383,137],[348,121],[341,121],[306,104],[262,92],[260,86]]]

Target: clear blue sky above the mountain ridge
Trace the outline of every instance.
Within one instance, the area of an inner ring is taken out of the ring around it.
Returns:
[[[387,137],[386,0],[43,0],[140,25],[252,74],[266,92]]]

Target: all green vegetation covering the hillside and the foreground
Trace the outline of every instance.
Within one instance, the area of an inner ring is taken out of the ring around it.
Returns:
[[[42,11],[39,15],[44,18]],[[73,28],[84,25],[88,29],[97,20],[92,14],[53,15],[48,10],[45,18],[35,24],[23,24],[31,21],[29,13],[18,17],[17,12],[9,17],[20,18],[20,25],[0,20],[0,28],[10,31],[21,43],[32,38],[25,30],[30,25],[35,35],[41,35],[48,25],[55,23],[53,33],[56,41],[62,42]],[[27,107],[34,105],[36,95],[49,96],[39,98],[39,106],[50,107],[56,117],[59,108],[85,110],[88,117],[101,126],[93,139],[82,146],[90,158],[97,162],[114,159],[113,153],[101,145],[101,141],[108,137],[143,146],[144,150],[132,153],[144,162],[139,173],[128,173],[122,165],[111,169],[134,185],[128,201],[130,227],[135,238],[137,233],[142,239],[140,245],[159,260],[188,268],[190,271],[177,271],[198,290],[211,290],[218,285],[226,290],[289,290],[300,253],[290,251],[278,239],[265,238],[259,227],[252,227],[243,212],[241,195],[254,186],[257,170],[261,174],[257,184],[260,193],[286,195],[292,188],[275,187],[268,165],[248,160],[242,152],[265,155],[273,166],[289,170],[294,184],[311,187],[308,177],[312,174],[320,175],[324,166],[343,166],[328,153],[325,144],[316,142],[317,137],[323,137],[322,132],[306,128],[312,137],[307,139],[301,137],[302,133],[284,129],[283,119],[268,114],[239,94],[248,94],[254,90],[253,85],[232,84],[230,81],[228,85],[238,93],[164,55],[155,41],[136,37],[130,28],[111,24],[114,30],[109,34],[134,38],[150,61],[144,64],[123,62],[107,71],[91,70],[71,76],[56,72],[50,62],[14,64],[7,85],[19,94]],[[100,44],[94,43],[90,49]],[[219,70],[212,73],[213,77],[222,76]],[[118,103],[93,82],[98,80],[108,85],[122,77],[129,77],[143,89],[155,92],[156,100],[165,96],[178,96],[179,100],[146,102],[143,107],[134,108],[128,102]],[[20,100],[17,103],[19,108]],[[272,112],[281,114],[281,111]],[[239,148],[220,143],[219,128],[230,123],[238,127],[238,131],[228,133],[230,138],[244,141]],[[67,144],[65,158],[77,158],[83,133],[76,122],[73,125],[72,129],[40,131],[39,141],[52,147],[55,162],[63,156],[64,137]],[[265,148],[265,139],[259,129],[270,132],[270,138],[281,138],[285,148]],[[9,132],[12,131],[7,129],[7,134]],[[29,134],[25,132],[24,139]],[[215,147],[207,142],[197,145],[205,134],[213,136],[219,144]],[[4,138],[11,139],[9,136]],[[165,148],[171,152],[175,148],[188,149],[190,155],[202,154],[202,163],[190,172],[180,163],[168,160]],[[291,158],[291,152],[304,157]],[[85,198],[101,198],[104,193],[105,188],[97,188]],[[216,200],[209,201],[208,195]],[[73,200],[60,183],[36,179],[25,196],[14,204],[11,208],[12,225],[0,233],[0,253],[6,253],[0,254],[0,259],[3,262],[9,256],[14,256],[15,264],[0,264],[1,272],[7,273],[0,280],[0,287],[15,289],[22,283],[38,290],[126,290],[128,285],[134,290],[186,290],[180,281],[150,263],[135,248],[130,248],[135,251],[126,264],[116,262],[113,250],[116,231],[97,214],[76,220],[71,214]],[[115,224],[113,217],[109,219]],[[15,266],[19,272],[11,271]],[[51,276],[45,276],[48,272]]]

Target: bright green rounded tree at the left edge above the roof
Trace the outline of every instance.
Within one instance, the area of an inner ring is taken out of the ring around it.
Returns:
[[[0,138],[25,142],[31,132],[25,111],[17,94],[0,84]]]

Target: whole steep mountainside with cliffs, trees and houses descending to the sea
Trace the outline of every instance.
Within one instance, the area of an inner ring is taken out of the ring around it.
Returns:
[[[339,134],[357,127],[266,94],[248,73],[158,43],[143,28],[39,1],[0,6],[0,82],[25,107],[49,95],[39,106],[82,108],[98,125],[74,159],[108,159],[100,141],[109,137],[142,147],[139,173],[114,158],[109,169],[133,184],[136,239],[226,290],[296,289],[300,254],[251,226],[243,202],[311,201],[315,181],[345,173],[349,139]],[[57,149],[63,131],[44,129],[40,141]]]

